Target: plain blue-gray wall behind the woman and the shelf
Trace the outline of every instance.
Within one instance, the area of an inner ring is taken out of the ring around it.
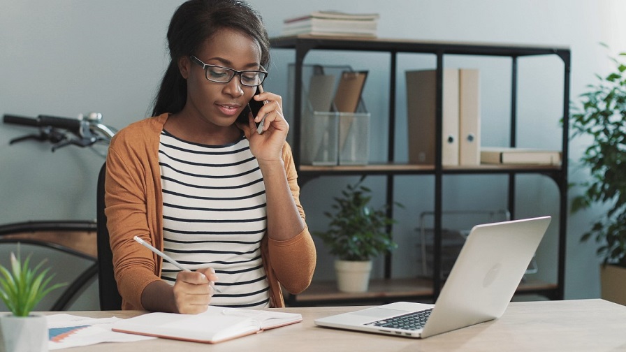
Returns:
[[[0,112],[36,116],[73,117],[101,112],[105,123],[122,128],[147,116],[157,84],[167,65],[165,34],[170,16],[180,1],[8,1],[0,0]],[[379,36],[425,41],[468,41],[560,45],[572,49],[572,98],[605,73],[610,63],[599,42],[614,52],[624,50],[626,33],[616,13],[624,13],[620,0],[553,1],[288,1],[254,0],[270,36],[281,31],[282,19],[312,10],[358,10],[380,13]],[[266,89],[287,96],[286,66],[293,52],[272,52]],[[399,78],[405,69],[434,67],[432,55],[400,55]],[[386,156],[388,110],[388,56],[351,52],[314,52],[308,63],[349,64],[369,70],[364,96],[372,113],[370,160]],[[506,145],[510,99],[510,60],[491,57],[446,57],[446,66],[481,70],[483,145]],[[518,145],[560,147],[562,62],[555,57],[520,61]],[[398,136],[396,159],[407,160],[405,86],[398,82]],[[66,147],[50,152],[49,145],[8,140],[28,129],[0,125],[0,223],[38,219],[94,219],[95,186],[103,162],[86,149]],[[574,140],[571,158],[578,159],[589,140]],[[572,181],[584,179],[585,170],[570,170]],[[303,189],[302,201],[312,230],[326,225],[323,210],[333,194],[351,178],[316,179]],[[377,203],[383,199],[384,180],[368,177]],[[416,227],[419,214],[432,209],[432,177],[398,177],[396,196],[405,205],[398,210],[395,236],[401,243],[393,263],[398,276],[416,274]],[[579,192],[572,190],[570,197]],[[506,207],[506,179],[495,176],[449,176],[444,179],[444,209],[502,209]],[[555,184],[540,176],[518,179],[518,217],[558,216]],[[538,201],[540,200],[540,201]],[[590,220],[602,209],[568,218],[566,298],[599,295],[594,244],[578,242]],[[474,219],[473,221],[480,221]],[[554,220],[556,223],[558,219]],[[456,219],[444,219],[453,226]],[[555,277],[555,225],[537,255],[539,277]],[[6,257],[4,254],[2,256]],[[315,279],[332,278],[332,258],[319,244]],[[64,270],[61,268],[61,270]],[[73,271],[73,270],[68,270]],[[377,270],[376,275],[381,274]],[[97,307],[93,288],[80,309]]]

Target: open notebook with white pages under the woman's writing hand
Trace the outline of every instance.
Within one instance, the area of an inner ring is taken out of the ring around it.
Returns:
[[[148,313],[117,321],[116,332],[215,344],[302,321],[281,311],[209,306],[201,314]]]

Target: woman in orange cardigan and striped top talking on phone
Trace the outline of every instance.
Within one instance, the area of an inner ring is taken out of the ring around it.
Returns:
[[[282,98],[256,94],[269,62],[261,17],[242,1],[191,0],[167,36],[171,61],[154,117],[119,131],[107,158],[105,213],[122,308],[282,307],[281,287],[307,288],[316,254]],[[252,99],[266,101],[256,116],[244,112]],[[163,262],[135,235],[192,271]]]

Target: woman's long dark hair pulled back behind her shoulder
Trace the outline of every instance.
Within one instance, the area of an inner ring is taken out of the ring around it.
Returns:
[[[176,113],[187,101],[187,80],[178,69],[178,59],[196,54],[201,45],[221,29],[235,29],[253,38],[261,48],[261,65],[270,61],[270,40],[261,15],[240,0],[189,0],[172,16],[168,28],[170,64],[154,98],[152,116]]]

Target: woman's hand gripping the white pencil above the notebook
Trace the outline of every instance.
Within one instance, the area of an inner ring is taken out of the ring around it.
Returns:
[[[174,284],[174,303],[178,313],[198,314],[207,310],[217,281],[215,271],[208,267],[195,272],[179,272]]]

